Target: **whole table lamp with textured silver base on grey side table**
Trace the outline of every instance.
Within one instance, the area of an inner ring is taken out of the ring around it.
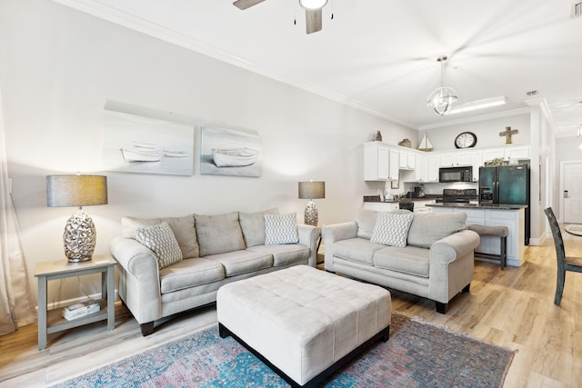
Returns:
[[[96,231],[83,206],[107,204],[107,177],[103,175],[47,175],[48,207],[78,206],[65,225],[63,239],[69,263],[91,260],[95,251]]]

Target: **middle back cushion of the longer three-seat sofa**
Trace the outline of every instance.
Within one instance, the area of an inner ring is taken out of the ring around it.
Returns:
[[[238,212],[218,215],[194,214],[200,255],[225,254],[244,250],[245,240],[238,223]]]

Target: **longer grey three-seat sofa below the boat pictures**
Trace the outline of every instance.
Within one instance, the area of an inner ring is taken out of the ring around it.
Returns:
[[[122,236],[110,244],[119,296],[148,335],[162,317],[215,303],[223,284],[298,264],[315,267],[319,232],[295,218],[276,209],[123,217]]]

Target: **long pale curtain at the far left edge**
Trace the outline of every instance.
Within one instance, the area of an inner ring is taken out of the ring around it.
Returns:
[[[5,121],[0,91],[0,335],[36,322],[25,254],[15,206],[10,196],[6,162]]]

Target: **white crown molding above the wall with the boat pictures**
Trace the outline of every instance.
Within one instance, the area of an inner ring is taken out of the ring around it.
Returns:
[[[352,99],[346,98],[346,96],[344,95],[339,95],[334,92],[331,92],[326,88],[322,88],[317,85],[303,82],[301,80],[291,77],[290,75],[273,72],[271,70],[266,69],[265,67],[256,65],[256,63],[247,61],[245,58],[232,55],[231,53],[228,53],[225,50],[216,47],[215,45],[210,45],[192,36],[178,33],[177,31],[169,29],[165,26],[156,25],[155,23],[152,23],[140,17],[136,17],[135,15],[127,14],[124,11],[121,11],[115,7],[100,4],[95,0],[53,0],[53,1],[60,5],[65,5],[69,8],[73,8],[85,14],[93,15],[100,19],[114,23],[115,25],[124,26],[131,30],[138,31],[142,34],[150,35],[152,37],[171,43],[173,45],[178,45],[180,47],[194,51],[196,53],[209,56],[221,62],[225,62],[230,65],[235,65],[237,67],[243,68],[247,71],[256,73],[258,75],[266,76],[283,84],[294,86],[298,89],[305,90],[306,92],[312,93],[314,95],[320,95],[329,100],[336,101],[336,103],[350,106],[366,114],[372,114],[376,117],[385,119],[389,122],[405,126],[406,128],[415,130],[418,129],[416,125],[406,123],[402,120],[396,119],[396,117],[384,114],[372,106],[361,104]]]

